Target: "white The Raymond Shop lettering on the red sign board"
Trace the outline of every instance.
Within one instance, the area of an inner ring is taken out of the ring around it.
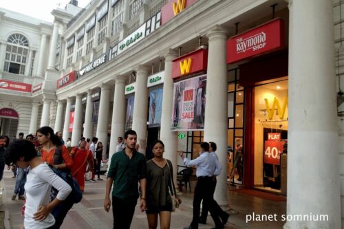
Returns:
[[[264,48],[266,45],[266,33],[259,32],[246,39],[237,39],[237,53],[246,52],[247,50],[257,51]]]

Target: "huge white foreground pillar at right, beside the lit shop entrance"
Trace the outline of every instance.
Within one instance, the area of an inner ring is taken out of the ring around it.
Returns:
[[[288,215],[284,228],[341,228],[332,1],[289,1]]]

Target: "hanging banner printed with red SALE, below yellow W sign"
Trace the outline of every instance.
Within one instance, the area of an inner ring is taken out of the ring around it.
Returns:
[[[204,129],[205,107],[206,75],[174,83],[171,130]]]

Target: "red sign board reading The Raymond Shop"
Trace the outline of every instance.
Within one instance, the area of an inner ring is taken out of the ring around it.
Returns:
[[[272,52],[285,46],[282,19],[269,21],[227,41],[227,63],[235,63],[252,56]]]

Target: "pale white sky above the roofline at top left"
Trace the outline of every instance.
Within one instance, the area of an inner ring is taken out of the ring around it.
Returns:
[[[26,14],[43,21],[53,22],[50,12],[56,8],[65,8],[70,0],[0,0],[0,8]],[[78,7],[85,8],[91,0],[78,0]]]

